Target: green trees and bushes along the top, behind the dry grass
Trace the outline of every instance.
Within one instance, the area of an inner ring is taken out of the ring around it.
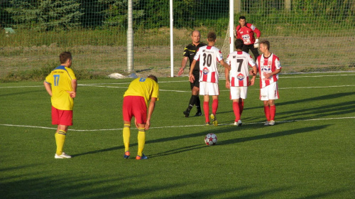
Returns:
[[[284,0],[241,1],[243,12],[252,13],[252,21],[283,14]],[[290,12],[317,16],[324,20],[354,23],[352,1],[293,0]],[[229,0],[174,0],[174,26],[193,28],[205,23],[228,23]],[[70,30],[73,28],[106,28],[127,26],[127,0],[0,0],[0,26],[38,31]],[[133,0],[133,27],[158,28],[169,26],[168,0]],[[221,21],[221,18],[224,20]],[[281,17],[282,18],[282,17]]]

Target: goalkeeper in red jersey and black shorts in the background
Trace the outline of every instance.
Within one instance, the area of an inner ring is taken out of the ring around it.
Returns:
[[[254,33],[256,33],[256,38],[254,38]],[[256,28],[251,23],[246,23],[245,16],[239,17],[239,25],[236,26],[236,33],[234,33],[236,38],[241,38],[244,41],[243,51],[249,53],[249,49],[251,53],[253,53],[254,58],[258,58],[258,42],[261,36],[261,32],[258,28]]]

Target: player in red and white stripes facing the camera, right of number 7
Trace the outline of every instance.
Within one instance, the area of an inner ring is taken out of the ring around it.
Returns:
[[[265,125],[275,124],[275,99],[278,95],[278,73],[281,72],[280,59],[271,53],[270,42],[261,41],[260,51],[263,53],[258,56],[256,65],[260,74],[260,99],[264,103],[264,112],[266,116]]]

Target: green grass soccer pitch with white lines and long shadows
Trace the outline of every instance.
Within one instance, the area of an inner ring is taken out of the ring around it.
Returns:
[[[220,80],[214,127],[182,114],[187,77],[159,78],[149,159],[141,161],[123,158],[121,104],[131,79],[78,81],[64,147],[71,159],[54,158],[43,82],[2,83],[0,198],[355,198],[354,80],[355,72],[280,75],[268,127],[258,82],[236,127]],[[204,144],[209,133],[217,145]],[[136,156],[135,127],[130,151]]]

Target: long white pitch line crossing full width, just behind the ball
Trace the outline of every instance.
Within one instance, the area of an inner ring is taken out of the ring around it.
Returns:
[[[318,118],[318,119],[293,119],[293,120],[284,120],[276,123],[287,123],[287,122],[307,122],[307,121],[321,121],[321,120],[334,120],[334,119],[355,119],[355,117],[332,117],[332,118]],[[243,123],[244,125],[250,124],[263,124],[265,122],[249,122]],[[218,124],[218,126],[226,126],[226,125],[233,125],[231,124]],[[36,127],[36,126],[28,126],[28,125],[15,125],[15,124],[0,124],[0,126],[6,127],[26,127],[26,128],[36,128],[36,129],[57,129],[52,127]],[[168,127],[151,127],[150,129],[165,129],[165,128],[179,128],[179,127],[203,127],[204,125],[182,125],[182,126],[168,126]],[[133,129],[133,128],[132,128]],[[119,131],[121,129],[87,129],[87,130],[80,130],[80,129],[69,129],[69,131]]]

